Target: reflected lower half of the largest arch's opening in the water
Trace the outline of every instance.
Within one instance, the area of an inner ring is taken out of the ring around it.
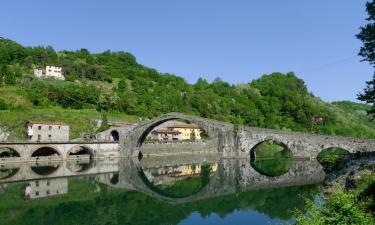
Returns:
[[[164,197],[185,198],[206,187],[217,169],[218,163],[184,164],[138,167],[138,174],[151,191]]]

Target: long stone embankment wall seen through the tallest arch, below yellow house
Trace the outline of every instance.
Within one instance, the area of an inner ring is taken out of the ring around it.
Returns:
[[[144,157],[180,154],[218,153],[217,139],[192,142],[145,143],[140,152]]]

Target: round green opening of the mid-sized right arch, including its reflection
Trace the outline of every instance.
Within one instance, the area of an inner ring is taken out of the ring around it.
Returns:
[[[250,151],[251,166],[260,174],[277,177],[293,166],[293,153],[283,143],[263,141]]]

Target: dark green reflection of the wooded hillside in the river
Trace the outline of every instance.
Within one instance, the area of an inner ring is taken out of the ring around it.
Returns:
[[[4,224],[178,224],[192,212],[203,217],[216,213],[225,217],[235,210],[256,210],[272,218],[290,219],[292,210],[304,209],[305,198],[312,199],[317,186],[258,190],[215,197],[181,205],[171,205],[135,191],[111,189],[92,180],[70,181],[69,193],[32,204],[14,199],[12,192],[0,195],[9,199],[0,210]],[[100,193],[96,193],[97,185]],[[14,189],[12,189],[14,190]],[[7,197],[8,196],[8,197]],[[11,203],[10,203],[10,199]],[[10,216],[16,215],[16,216]],[[68,215],[68,216],[67,216]]]

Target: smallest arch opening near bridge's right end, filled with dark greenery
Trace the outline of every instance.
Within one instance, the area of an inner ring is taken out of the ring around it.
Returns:
[[[342,169],[350,156],[351,154],[343,148],[331,147],[323,149],[318,154],[317,160],[324,167],[324,170],[330,172]]]

